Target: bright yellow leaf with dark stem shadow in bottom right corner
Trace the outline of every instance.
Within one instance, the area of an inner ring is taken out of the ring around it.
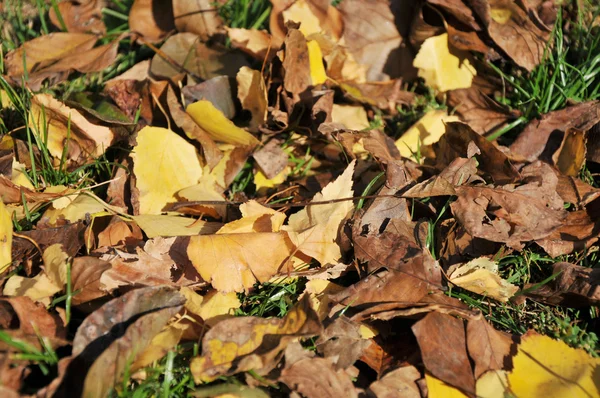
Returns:
[[[597,397],[600,359],[562,341],[528,332],[521,338],[508,374],[517,397]]]

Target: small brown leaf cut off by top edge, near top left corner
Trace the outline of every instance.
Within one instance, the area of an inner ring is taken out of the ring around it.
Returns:
[[[106,25],[102,20],[102,8],[105,0],[68,0],[58,3],[58,12],[67,31],[73,33],[105,34]],[[50,21],[57,28],[62,28],[54,7],[50,8]]]

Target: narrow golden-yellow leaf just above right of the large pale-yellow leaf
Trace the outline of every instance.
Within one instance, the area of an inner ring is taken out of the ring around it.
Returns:
[[[215,108],[210,101],[200,100],[185,110],[210,137],[218,142],[255,147],[259,141],[250,133],[237,127]]]

